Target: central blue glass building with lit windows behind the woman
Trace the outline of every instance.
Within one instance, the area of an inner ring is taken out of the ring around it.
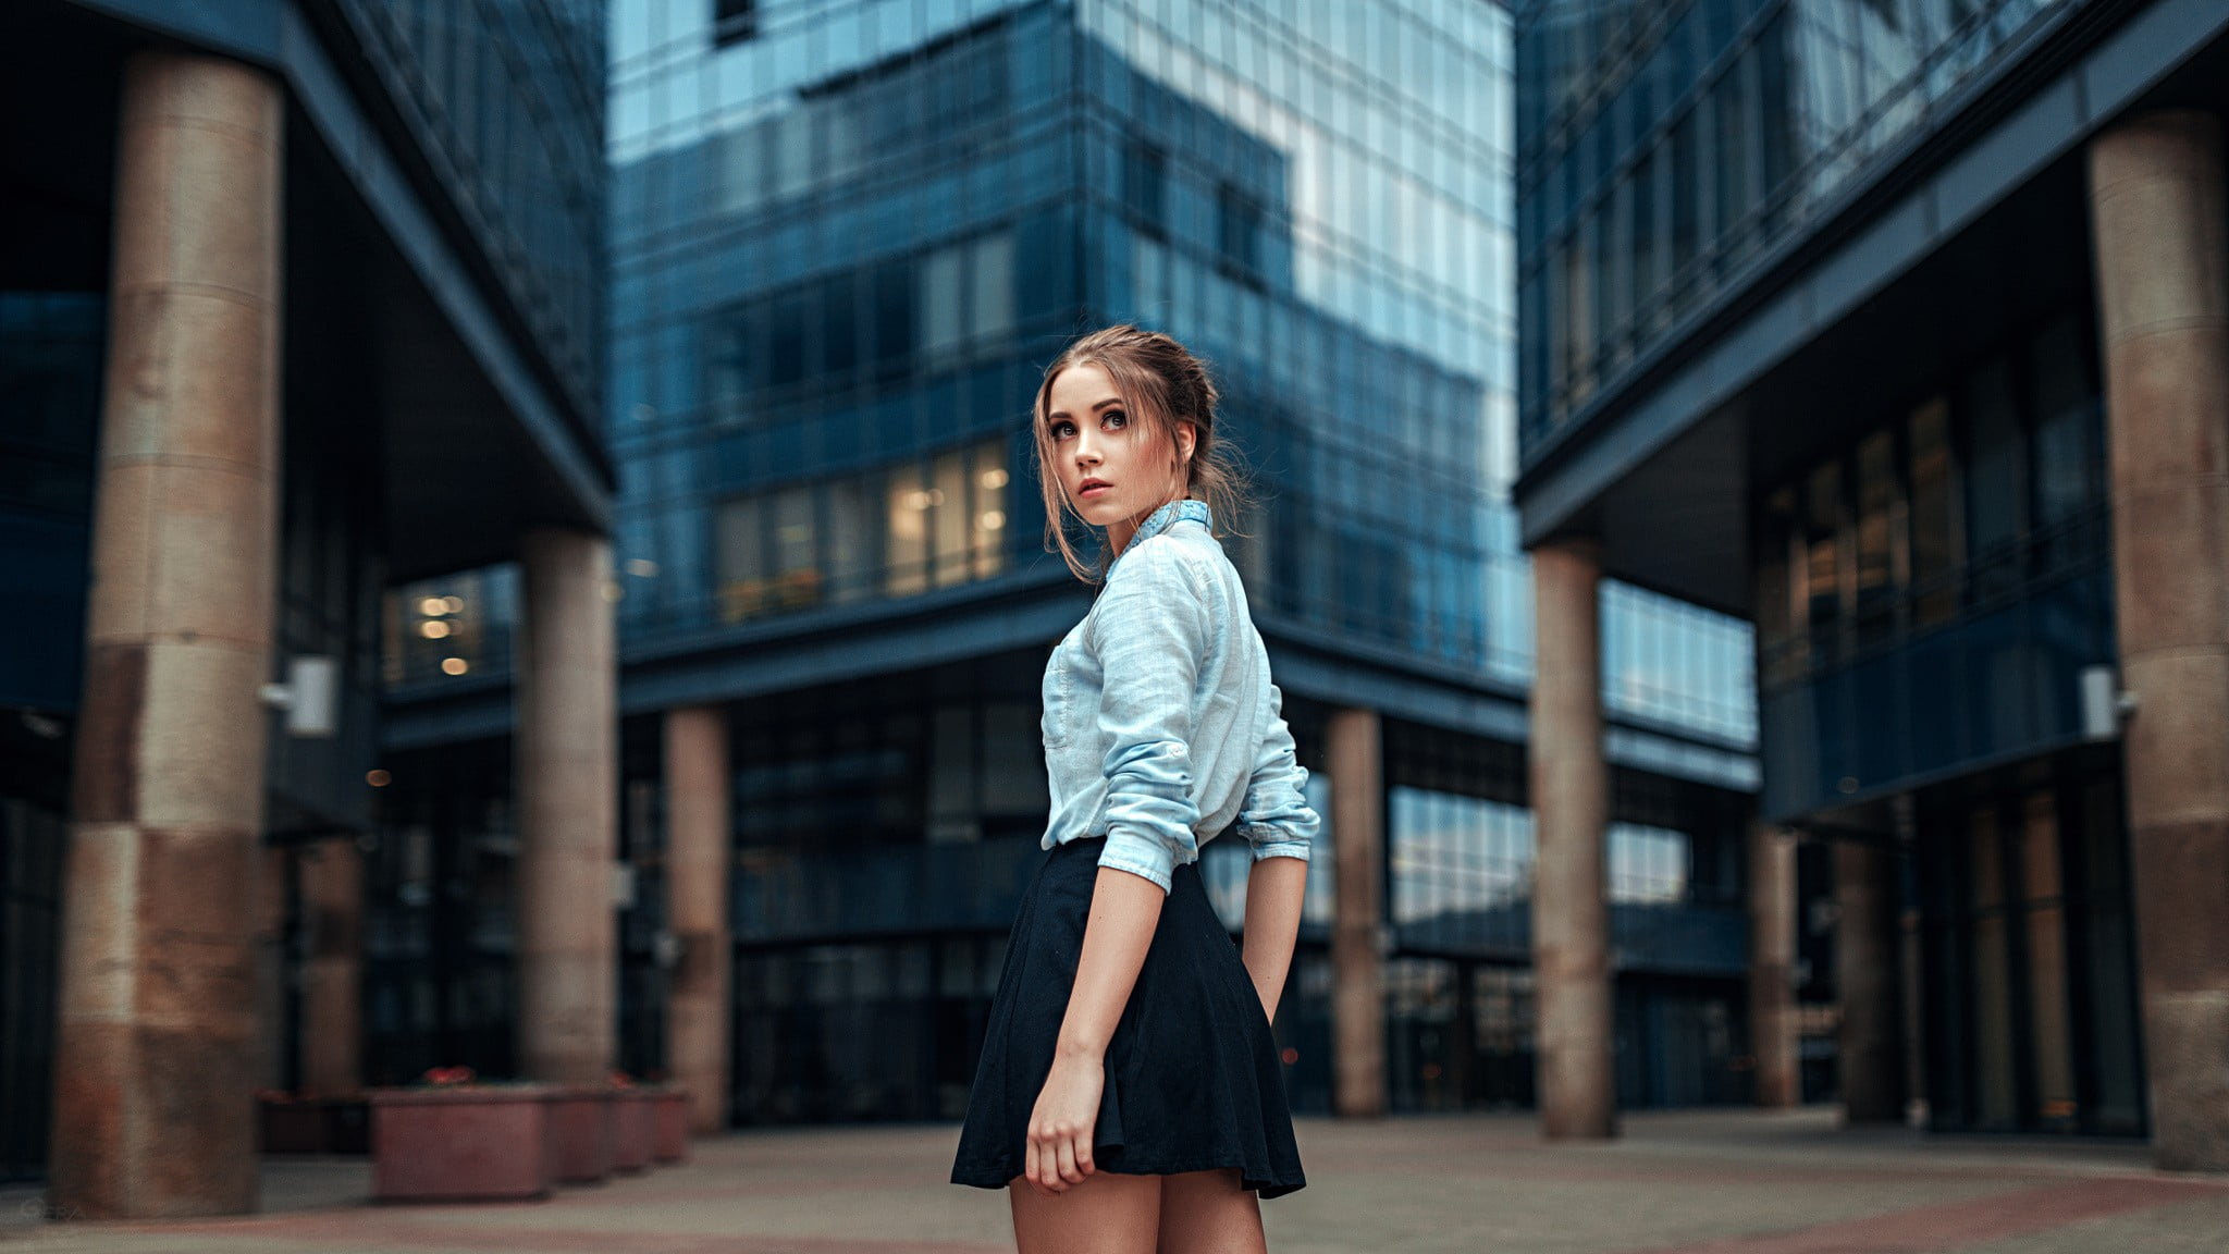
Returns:
[[[1511,127],[1482,0],[611,7],[629,1067],[718,1122],[961,1113],[1090,602],[1028,406],[1135,319],[1259,473],[1233,556],[1328,819],[1295,1105],[1531,1102]],[[392,600],[374,1075],[510,1060],[513,578]],[[1603,616],[1618,1089],[1743,1100],[1750,634]],[[1242,850],[1204,872],[1237,926]]]

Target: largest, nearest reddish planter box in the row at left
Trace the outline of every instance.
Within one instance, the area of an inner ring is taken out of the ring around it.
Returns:
[[[372,1089],[372,1196],[542,1198],[555,1176],[548,1084]]]

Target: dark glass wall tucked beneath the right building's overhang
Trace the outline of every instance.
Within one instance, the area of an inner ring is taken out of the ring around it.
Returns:
[[[2060,310],[1761,493],[1770,812],[2082,734],[2115,658],[2093,346]]]

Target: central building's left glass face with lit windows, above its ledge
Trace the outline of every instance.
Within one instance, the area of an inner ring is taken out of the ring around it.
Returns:
[[[1061,9],[611,22],[629,638],[1052,578],[1028,404],[1083,317]]]

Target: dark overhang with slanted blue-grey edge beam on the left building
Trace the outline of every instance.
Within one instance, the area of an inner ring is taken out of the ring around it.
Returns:
[[[328,22],[294,0],[40,9],[82,22],[74,33],[105,38],[118,60],[136,45],[174,42],[285,85],[288,422],[294,433],[377,426],[390,580],[515,558],[533,527],[611,529],[617,478],[597,415],[577,413],[524,341],[508,297],[475,279],[473,245],[444,225],[439,190],[410,174],[410,138],[366,107],[366,69],[332,47]],[[103,87],[78,85],[87,89]],[[69,109],[49,114],[65,120]],[[114,118],[114,105],[94,116]],[[109,154],[111,141],[87,149]],[[105,167],[74,179],[109,183]]]

